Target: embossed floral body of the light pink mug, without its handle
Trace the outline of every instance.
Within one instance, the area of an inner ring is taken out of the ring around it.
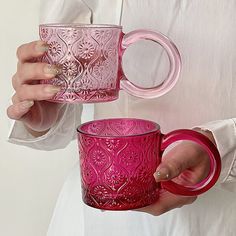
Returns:
[[[42,61],[57,64],[62,73],[42,83],[60,85],[62,90],[52,100],[104,101],[117,97],[118,51],[120,29],[103,30],[83,27],[40,27],[41,39],[49,44]],[[116,73],[115,73],[116,75]],[[98,89],[94,89],[94,88]]]

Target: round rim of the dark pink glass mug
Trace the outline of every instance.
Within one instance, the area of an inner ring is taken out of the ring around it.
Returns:
[[[89,133],[89,132],[86,132],[86,131],[83,131],[81,128],[84,126],[84,125],[88,125],[88,124],[91,124],[91,123],[94,123],[94,122],[99,122],[99,121],[112,121],[112,120],[136,120],[136,121],[145,121],[145,122],[149,122],[149,123],[152,123],[154,125],[154,128],[153,129],[150,129],[149,131],[146,131],[146,132],[143,132],[143,133],[140,133],[140,134],[129,134],[129,135],[124,135],[124,134],[121,134],[121,135],[98,135],[98,134],[92,134],[92,133]],[[154,121],[151,121],[151,120],[146,120],[146,119],[139,119],[139,118],[107,118],[107,119],[98,119],[98,120],[91,120],[91,121],[88,121],[88,122],[85,122],[83,124],[80,124],[78,127],[77,127],[77,134],[83,134],[83,135],[88,135],[88,136],[91,136],[91,137],[98,137],[98,138],[128,138],[128,137],[138,137],[138,136],[144,136],[144,135],[147,135],[147,134],[151,134],[151,133],[155,133],[157,131],[160,132],[160,125],[157,124],[156,122]]]

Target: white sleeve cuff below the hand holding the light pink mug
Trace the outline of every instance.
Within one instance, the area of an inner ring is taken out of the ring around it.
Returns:
[[[37,138],[27,131],[22,122],[15,121],[8,141],[46,151],[65,148],[76,137],[76,129],[81,123],[81,113],[81,104],[64,105],[53,127],[45,135]]]

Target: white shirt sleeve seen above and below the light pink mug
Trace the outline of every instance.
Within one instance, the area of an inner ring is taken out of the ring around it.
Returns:
[[[39,18],[40,23],[92,23],[93,9],[83,0],[41,0]],[[81,114],[82,105],[63,105],[53,127],[37,138],[27,131],[22,122],[14,121],[8,141],[40,150],[64,148],[75,138]]]

